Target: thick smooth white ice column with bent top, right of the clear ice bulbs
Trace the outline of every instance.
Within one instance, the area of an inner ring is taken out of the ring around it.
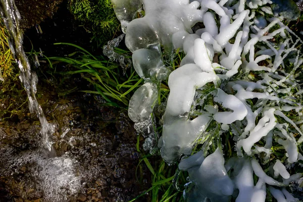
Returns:
[[[208,82],[215,82],[215,74],[202,72],[195,64],[184,65],[169,76],[170,95],[164,115],[163,142],[159,143],[161,156],[173,164],[182,154],[190,155],[194,141],[206,129],[211,115],[205,113],[188,120],[195,89]]]

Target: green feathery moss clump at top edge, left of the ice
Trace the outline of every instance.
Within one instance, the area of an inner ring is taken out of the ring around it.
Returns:
[[[112,39],[120,29],[110,0],[70,0],[70,11],[93,33],[93,40],[98,45]]]

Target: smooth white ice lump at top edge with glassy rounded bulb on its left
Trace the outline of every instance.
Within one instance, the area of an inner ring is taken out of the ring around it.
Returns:
[[[203,11],[199,10],[199,3],[188,1],[143,0],[145,16],[131,21],[126,30],[126,46],[131,52],[139,48],[158,47],[160,42],[164,46],[165,55],[172,59],[174,48],[182,44],[173,35],[185,36],[192,33],[191,27],[202,22]],[[184,35],[185,34],[185,35]],[[181,38],[182,40],[182,38]],[[173,44],[173,41],[178,45]]]

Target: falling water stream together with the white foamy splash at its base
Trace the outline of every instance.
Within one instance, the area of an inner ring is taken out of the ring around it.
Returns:
[[[36,113],[41,124],[40,134],[42,136],[36,150],[29,150],[18,155],[6,152],[3,156],[8,157],[7,171],[9,172],[12,167],[32,165],[28,168],[27,173],[38,184],[36,187],[43,190],[44,200],[66,201],[66,190],[75,194],[80,187],[80,178],[75,175],[74,171],[75,161],[67,155],[57,156],[52,146],[49,136],[55,132],[55,125],[47,122],[35,96],[38,78],[36,73],[31,71],[29,60],[23,49],[23,32],[19,26],[21,16],[15,2],[1,0],[0,13],[10,34],[10,49],[20,69],[19,78],[28,96],[30,113]],[[25,184],[25,186],[28,185]],[[63,187],[65,189],[62,189]]]

